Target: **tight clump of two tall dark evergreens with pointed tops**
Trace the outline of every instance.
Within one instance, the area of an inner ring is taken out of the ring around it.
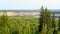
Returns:
[[[47,8],[41,8],[39,31],[41,34],[51,34],[51,13]]]

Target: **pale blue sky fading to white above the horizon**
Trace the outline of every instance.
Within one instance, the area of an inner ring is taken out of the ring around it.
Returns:
[[[0,0],[0,10],[60,9],[60,0]]]

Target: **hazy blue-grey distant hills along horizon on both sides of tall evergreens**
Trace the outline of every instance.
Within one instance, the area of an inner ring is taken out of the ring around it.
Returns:
[[[40,10],[0,10],[0,12],[40,12]],[[50,9],[51,12],[60,13],[60,9]]]

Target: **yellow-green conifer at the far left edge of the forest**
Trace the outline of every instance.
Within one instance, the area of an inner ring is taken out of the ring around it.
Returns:
[[[10,32],[9,32],[9,29],[8,29],[8,26],[6,25],[6,18],[5,18],[5,14],[3,14],[2,16],[1,16],[1,21],[0,21],[0,34],[10,34]]]

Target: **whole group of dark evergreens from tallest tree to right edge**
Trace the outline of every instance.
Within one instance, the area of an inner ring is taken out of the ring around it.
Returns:
[[[55,14],[51,13],[47,8],[44,9],[43,6],[41,8],[39,20],[39,32],[41,34],[60,34],[58,33],[60,31],[60,17],[56,20]]]

